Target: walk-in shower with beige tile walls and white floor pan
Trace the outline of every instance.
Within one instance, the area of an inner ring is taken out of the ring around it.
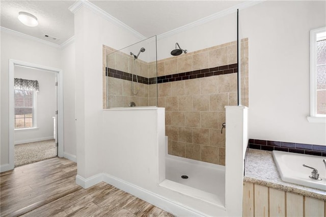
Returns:
[[[210,47],[188,46],[173,41],[172,51],[160,60],[156,37],[121,50],[105,46],[103,107],[127,110],[124,117],[145,113],[150,106],[164,107],[166,154],[158,168],[165,178],[157,184],[224,207],[225,106],[248,106],[248,39],[235,34]]]

